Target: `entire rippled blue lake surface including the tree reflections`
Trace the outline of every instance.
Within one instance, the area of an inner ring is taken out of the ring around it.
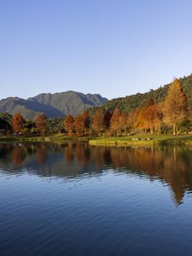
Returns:
[[[0,255],[191,255],[191,155],[0,144]]]

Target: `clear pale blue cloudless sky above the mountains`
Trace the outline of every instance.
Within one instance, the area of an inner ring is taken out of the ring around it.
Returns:
[[[0,0],[0,98],[110,99],[190,73],[191,0]]]

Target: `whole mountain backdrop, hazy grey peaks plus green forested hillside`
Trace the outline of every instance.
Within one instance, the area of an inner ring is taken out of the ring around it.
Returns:
[[[179,80],[185,95],[188,96],[189,111],[192,113],[192,74]],[[48,118],[64,117],[68,113],[76,116],[88,108],[90,113],[94,113],[98,107],[111,112],[114,108],[119,108],[122,112],[129,112],[131,109],[144,106],[148,98],[154,99],[154,102],[164,101],[169,85],[166,84],[156,90],[119,97],[110,101],[99,94],[85,95],[73,90],[55,94],[43,93],[26,100],[9,97],[0,101],[0,112],[10,114],[20,112],[26,119],[35,119],[38,113],[45,113]]]

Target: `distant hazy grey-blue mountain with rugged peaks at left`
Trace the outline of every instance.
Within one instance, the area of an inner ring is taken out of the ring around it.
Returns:
[[[102,106],[107,101],[99,94],[85,95],[69,90],[55,94],[43,93],[26,100],[9,97],[0,101],[0,112],[21,113],[25,119],[35,119],[39,113],[44,113],[48,118],[64,117],[68,113],[75,116],[88,108]]]

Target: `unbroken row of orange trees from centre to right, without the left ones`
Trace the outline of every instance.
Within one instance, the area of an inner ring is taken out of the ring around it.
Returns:
[[[121,112],[119,108],[115,108],[111,113],[97,108],[92,115],[84,112],[74,118],[69,114],[64,120],[64,126],[69,135],[82,135],[86,131],[90,131],[90,135],[107,137],[143,132],[160,134],[167,133],[170,129],[175,135],[190,130],[188,98],[183,93],[180,81],[175,79],[163,102],[156,103],[148,98],[145,106],[129,112]]]

